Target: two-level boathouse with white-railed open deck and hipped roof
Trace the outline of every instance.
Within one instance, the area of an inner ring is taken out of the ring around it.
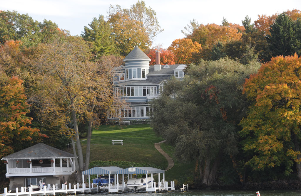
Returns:
[[[46,144],[36,144],[3,157],[6,164],[6,178],[9,189],[45,184],[58,184],[69,180],[75,171],[74,155]],[[73,182],[71,182],[73,183]]]

